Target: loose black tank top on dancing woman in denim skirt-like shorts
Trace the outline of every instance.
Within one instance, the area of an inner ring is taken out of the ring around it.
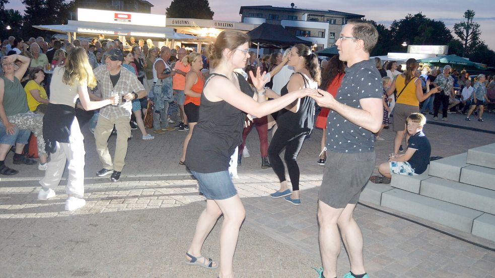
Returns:
[[[251,86],[241,74],[236,74],[241,91],[252,98],[254,91]],[[204,95],[204,88],[215,75],[227,78],[217,73],[211,73],[206,78],[201,94],[199,119],[187,145],[184,161],[189,169],[199,173],[228,170],[230,157],[242,142],[246,114],[225,101],[210,102]]]

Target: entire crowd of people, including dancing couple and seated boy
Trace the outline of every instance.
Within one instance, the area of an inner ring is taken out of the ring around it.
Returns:
[[[352,213],[368,180],[389,183],[391,173],[426,170],[431,146],[422,132],[423,114],[438,120],[442,109],[442,120],[448,121],[454,110],[466,113],[469,121],[477,113],[482,122],[484,107],[495,101],[491,76],[470,80],[468,73],[450,66],[421,72],[415,59],[407,60],[404,71],[395,61],[370,60],[377,39],[371,24],[349,20],[336,41],[339,54],[319,62],[303,44],[258,58],[249,51],[249,37],[238,31],[223,31],[198,52],[179,46],[158,49],[150,39],[145,43],[133,37],[128,42],[103,36],[45,42],[39,37],[26,43],[10,37],[0,53],[0,174],[18,173],[5,163],[12,146],[14,164],[37,163],[23,153],[33,133],[30,144],[37,145],[38,169],[45,171],[38,199],[55,197],[68,163],[65,210],[74,211],[86,203],[85,151],[76,108],[94,111],[90,131],[102,164],[96,175],[110,175],[112,181],[120,180],[132,129],[139,129],[143,140],[187,131],[177,162],[198,180],[206,208],[185,259],[205,268],[220,266],[219,277],[233,277],[245,211],[232,180],[237,165],[249,156],[249,132],[254,126],[259,134],[261,167],[271,167],[279,179],[279,189],[270,196],[301,205],[297,157],[314,127],[321,128],[317,163],[325,168],[317,217],[323,268],[318,272],[320,278],[336,276],[342,238],[351,263],[344,277],[366,278],[362,235]],[[45,75],[47,64],[54,69]],[[145,126],[150,117],[155,135]],[[176,117],[180,120],[173,127]],[[392,123],[393,153],[380,164],[381,175],[371,176],[375,141],[383,140],[380,132]],[[108,149],[112,134],[113,158]],[[218,263],[203,257],[201,247],[221,215]]]

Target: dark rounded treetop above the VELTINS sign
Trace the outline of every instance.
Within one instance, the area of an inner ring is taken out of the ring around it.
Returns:
[[[172,0],[165,13],[170,18],[213,19],[208,0]]]

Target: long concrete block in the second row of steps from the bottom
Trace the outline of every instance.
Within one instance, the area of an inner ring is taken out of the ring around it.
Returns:
[[[495,191],[432,177],[421,182],[419,194],[466,208],[495,214]]]

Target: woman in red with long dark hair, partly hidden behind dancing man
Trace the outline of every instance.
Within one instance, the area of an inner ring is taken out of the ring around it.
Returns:
[[[328,61],[328,64],[321,74],[320,88],[328,91],[334,98],[337,95],[340,83],[342,83],[342,78],[344,78],[345,75],[344,62],[340,61],[338,57],[338,54],[333,56],[330,61]],[[329,108],[322,108],[318,117],[316,117],[315,123],[317,128],[323,129],[323,135],[321,136],[321,152],[320,157],[318,158],[318,165],[321,166],[325,166],[326,161],[325,139],[328,113],[330,113]]]

